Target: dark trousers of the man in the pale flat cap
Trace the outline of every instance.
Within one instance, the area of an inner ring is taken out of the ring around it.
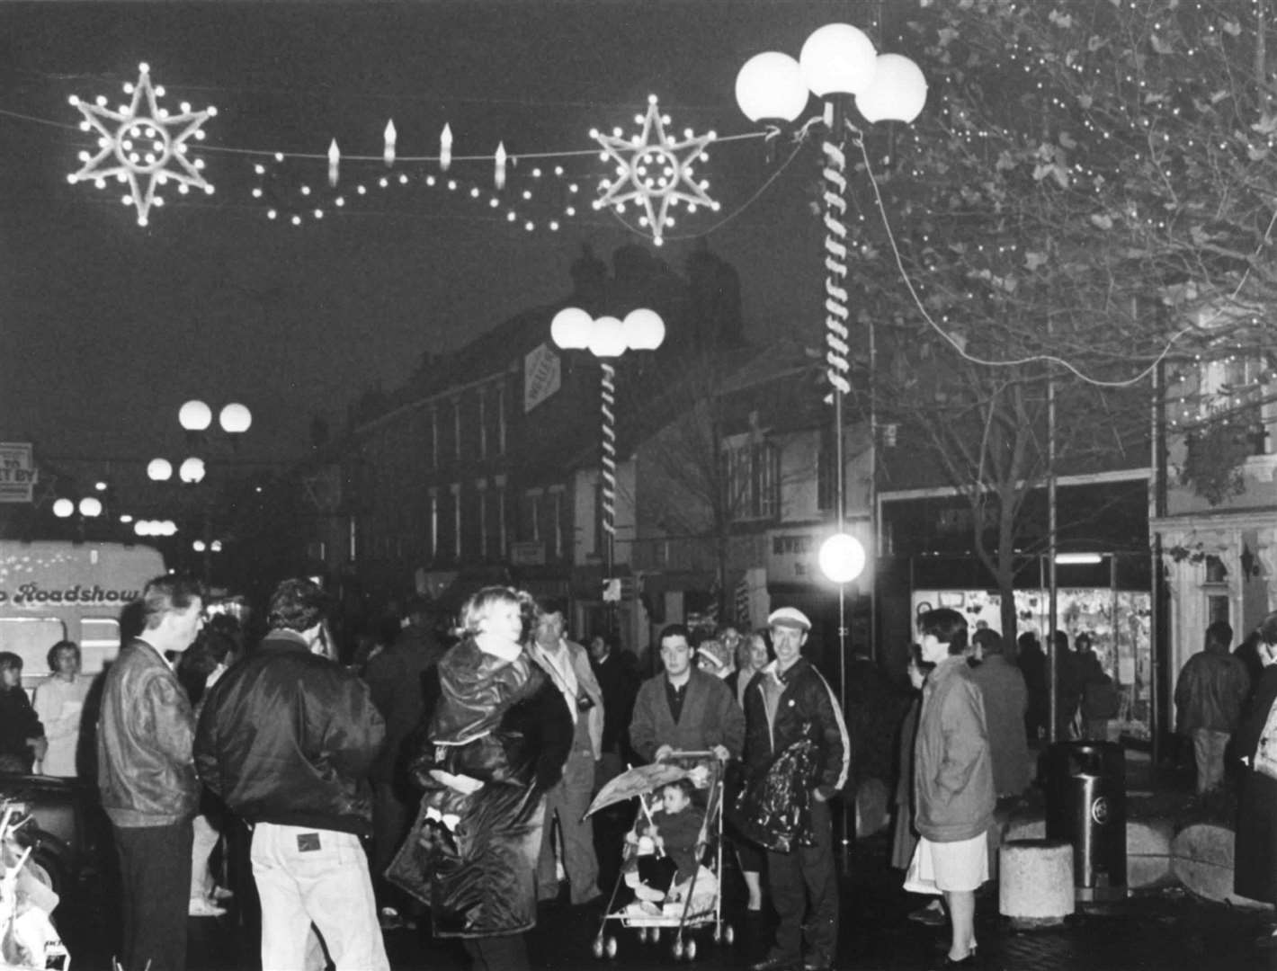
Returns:
[[[838,875],[829,803],[812,799],[811,828],[815,846],[799,846],[787,854],[767,852],[767,887],[780,917],[771,953],[793,961],[802,958],[819,967],[833,962],[838,945]],[[805,924],[808,897],[811,916]]]

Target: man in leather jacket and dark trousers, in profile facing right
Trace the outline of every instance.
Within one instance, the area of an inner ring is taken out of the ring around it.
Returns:
[[[144,629],[106,672],[97,726],[97,785],[120,859],[124,971],[183,971],[192,819],[199,782],[194,716],[166,655],[204,625],[203,588],[158,577],[142,592]]]

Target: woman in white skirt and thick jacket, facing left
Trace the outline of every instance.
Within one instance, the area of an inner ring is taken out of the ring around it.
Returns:
[[[914,850],[904,887],[945,898],[953,938],[945,967],[976,963],[976,891],[988,879],[994,768],[985,702],[967,666],[967,620],[956,610],[918,618],[922,660],[936,665],[922,688],[913,749]]]

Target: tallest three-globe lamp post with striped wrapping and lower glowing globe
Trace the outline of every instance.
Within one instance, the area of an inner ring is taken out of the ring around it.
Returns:
[[[877,54],[873,42],[858,28],[826,24],[802,46],[796,61],[787,54],[766,51],[741,68],[736,97],[751,121],[779,130],[793,124],[807,107],[808,96],[824,100],[821,153],[824,156],[824,265],[825,276],[825,374],[830,384],[826,401],[834,412],[834,504],[835,531],[820,550],[825,575],[838,584],[839,686],[847,708],[847,584],[865,569],[865,547],[847,532],[847,489],[843,467],[843,398],[850,390],[848,374],[847,308],[847,137],[861,133],[848,119],[856,108],[868,122],[913,121],[927,98],[927,83],[918,66],[898,54]],[[871,323],[872,327],[872,323]],[[871,336],[872,343],[872,336]],[[876,435],[873,421],[870,431]],[[873,443],[876,448],[876,441]],[[875,510],[870,510],[871,521]],[[872,601],[872,595],[871,595]],[[871,612],[873,605],[871,602]],[[854,814],[844,803],[843,861],[849,860]]]

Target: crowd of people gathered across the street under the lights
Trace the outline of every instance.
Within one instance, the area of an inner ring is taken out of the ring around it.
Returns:
[[[430,601],[411,601],[356,663],[338,657],[332,606],[315,583],[286,581],[264,637],[248,643],[235,619],[208,614],[197,582],[147,586],[142,629],[102,676],[93,726],[123,971],[185,966],[188,917],[225,914],[234,896],[235,834],[261,901],[266,968],[388,968],[383,934],[427,921],[434,937],[461,939],[479,971],[526,968],[539,907],[598,915],[619,900],[646,914],[667,894],[718,889],[722,874],[697,875],[706,806],[686,778],[664,782],[659,809],[633,828],[624,806],[628,818],[587,814],[631,766],[682,753],[723,767],[725,850],[744,907],[766,902],[776,917],[751,971],[833,967],[830,801],[850,795],[853,740],[847,699],[803,655],[812,624],[801,610],[779,607],[747,632],[669,624],[653,644],[659,670],[644,678],[613,634],[577,643],[562,605],[508,587],[476,592],[455,628]],[[1050,735],[1036,697],[1046,655],[1022,634],[1009,656],[999,633],[969,630],[950,609],[922,611],[917,633],[890,861],[907,891],[935,898],[911,917],[949,928],[944,965],[969,966],[996,823],[1032,785]],[[1277,614],[1237,656],[1231,641],[1227,624],[1212,624],[1185,665],[1176,730],[1191,740],[1200,794],[1222,785],[1227,762],[1237,767],[1237,892],[1277,902]],[[1107,738],[1111,679],[1089,635],[1070,648],[1056,632],[1054,647],[1056,738]],[[74,776],[89,679],[72,642],[47,661],[28,700],[20,658],[0,652],[0,759]],[[617,897],[622,886],[633,903]]]

